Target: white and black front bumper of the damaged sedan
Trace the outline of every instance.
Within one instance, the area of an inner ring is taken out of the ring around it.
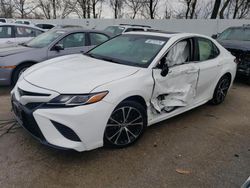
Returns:
[[[112,104],[100,101],[78,107],[51,108],[45,102],[37,102],[38,99],[27,102],[27,96],[19,97],[17,92],[16,86],[12,91],[15,117],[42,144],[76,151],[103,146],[106,123],[114,109]]]

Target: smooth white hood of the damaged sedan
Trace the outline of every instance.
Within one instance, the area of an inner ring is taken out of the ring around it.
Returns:
[[[130,76],[139,69],[78,54],[32,66],[24,72],[24,79],[35,86],[59,93],[83,94],[98,86]]]

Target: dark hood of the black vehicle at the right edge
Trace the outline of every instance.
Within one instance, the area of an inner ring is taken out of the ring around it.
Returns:
[[[226,49],[250,51],[250,41],[218,40],[218,42]]]

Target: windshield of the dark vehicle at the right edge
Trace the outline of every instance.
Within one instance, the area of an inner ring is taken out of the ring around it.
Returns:
[[[218,40],[250,41],[250,28],[229,28],[223,31]]]

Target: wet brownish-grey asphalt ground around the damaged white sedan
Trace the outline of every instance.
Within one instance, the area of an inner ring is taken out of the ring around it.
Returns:
[[[0,88],[0,120],[12,119],[9,91]],[[249,93],[237,82],[223,104],[153,125],[126,149],[60,151],[0,125],[0,187],[240,187],[250,176]]]

